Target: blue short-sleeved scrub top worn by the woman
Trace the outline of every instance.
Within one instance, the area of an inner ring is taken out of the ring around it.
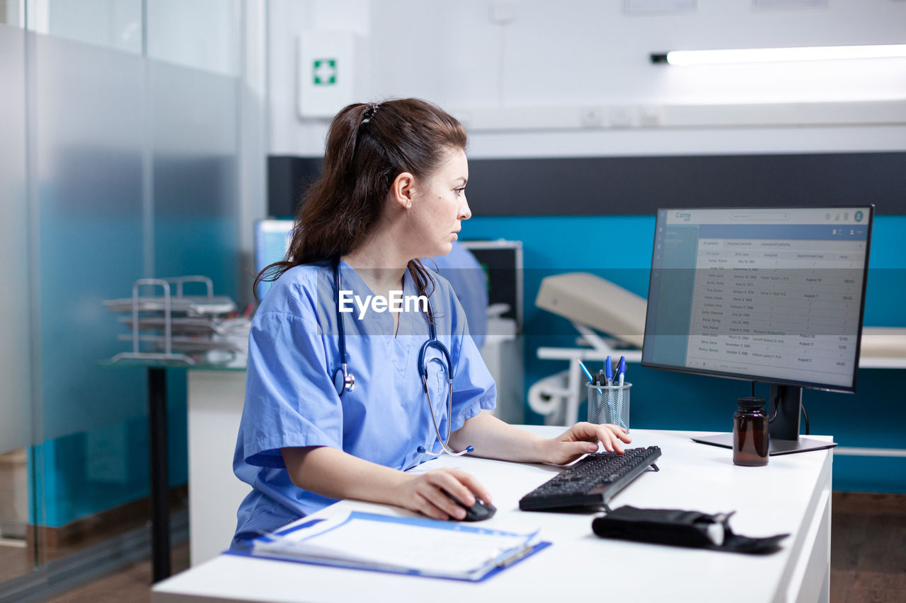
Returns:
[[[340,263],[342,289],[362,300],[372,292],[347,263]],[[449,283],[437,275],[430,295],[438,339],[453,368],[452,431],[482,408],[493,408],[496,386],[468,335],[462,307]],[[417,308],[400,313],[393,337],[389,311],[359,308],[343,314],[348,370],[355,388],[337,395],[333,375],[341,368],[331,263],[295,266],[265,296],[248,343],[246,403],[236,439],[233,471],[252,486],[239,506],[236,541],[316,512],[335,501],[295,486],[280,453],[287,446],[333,446],[372,463],[409,469],[431,457],[419,445],[440,450],[428,397],[419,377],[419,349],[429,339]],[[416,295],[407,272],[403,295]],[[429,389],[442,436],[446,436],[445,363],[429,349]],[[442,417],[442,418],[441,418]]]

